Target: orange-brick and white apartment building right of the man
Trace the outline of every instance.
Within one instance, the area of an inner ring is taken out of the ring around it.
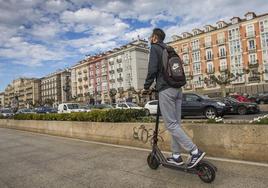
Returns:
[[[217,92],[220,86],[206,78],[225,76],[228,70],[241,75],[227,86],[229,92],[268,92],[268,14],[248,12],[243,19],[218,21],[172,38],[169,45],[184,61],[185,91]]]

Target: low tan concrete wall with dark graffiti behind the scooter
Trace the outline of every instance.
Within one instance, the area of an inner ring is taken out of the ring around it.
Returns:
[[[82,140],[150,148],[154,124],[1,119],[0,127]],[[184,130],[211,157],[268,163],[268,126],[252,124],[184,124]],[[163,124],[159,144],[170,150]]]

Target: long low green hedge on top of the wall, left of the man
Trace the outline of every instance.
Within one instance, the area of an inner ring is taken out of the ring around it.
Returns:
[[[17,114],[15,120],[53,120],[53,121],[91,121],[91,122],[152,122],[153,118],[145,117],[144,110],[111,109],[92,110],[64,114]]]

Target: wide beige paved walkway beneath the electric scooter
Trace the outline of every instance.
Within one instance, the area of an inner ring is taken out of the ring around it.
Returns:
[[[214,183],[147,167],[147,151],[0,128],[0,188],[268,187],[268,167],[212,161]],[[267,166],[267,165],[266,165]]]

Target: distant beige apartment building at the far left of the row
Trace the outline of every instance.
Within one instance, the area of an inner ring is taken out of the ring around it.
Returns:
[[[5,89],[4,103],[6,107],[17,104],[19,108],[28,108],[40,101],[40,79],[18,78]]]

